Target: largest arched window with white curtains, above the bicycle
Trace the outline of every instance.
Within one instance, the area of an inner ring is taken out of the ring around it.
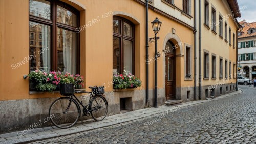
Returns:
[[[78,24],[79,12],[73,7],[60,1],[30,0],[30,71],[79,73]]]

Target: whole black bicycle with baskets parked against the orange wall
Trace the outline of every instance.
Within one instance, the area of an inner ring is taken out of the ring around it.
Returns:
[[[73,85],[73,84],[72,84]],[[62,92],[60,89],[61,97],[56,99],[50,106],[49,116],[51,122],[58,128],[70,128],[76,124],[78,118],[81,117],[81,107],[82,106],[82,116],[89,116],[91,114],[95,121],[102,121],[106,114],[108,113],[108,101],[106,101],[104,94],[104,87],[89,87],[92,89],[91,92],[82,90],[71,90],[71,93]],[[89,93],[90,99],[87,105],[83,105],[74,93]],[[52,115],[53,114],[53,115]]]

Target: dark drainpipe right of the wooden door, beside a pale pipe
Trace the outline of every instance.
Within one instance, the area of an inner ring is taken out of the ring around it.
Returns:
[[[194,1],[194,99],[197,100],[197,1]]]

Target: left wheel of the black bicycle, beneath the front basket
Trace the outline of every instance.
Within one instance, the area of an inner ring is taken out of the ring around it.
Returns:
[[[79,105],[69,97],[56,99],[50,109],[51,122],[58,128],[70,128],[79,118]]]

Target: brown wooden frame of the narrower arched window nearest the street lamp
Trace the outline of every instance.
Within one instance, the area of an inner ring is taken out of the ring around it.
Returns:
[[[115,37],[118,37],[118,38],[120,38],[120,47],[119,47],[119,52],[120,52],[120,58],[119,58],[119,62],[120,62],[120,74],[122,74],[123,72],[124,72],[124,61],[123,61],[123,59],[124,59],[124,55],[123,55],[123,52],[124,52],[124,50],[123,50],[123,40],[125,39],[125,40],[129,40],[129,41],[132,41],[133,42],[133,52],[132,52],[132,65],[133,65],[133,71],[132,71],[132,73],[133,73],[133,75],[135,75],[135,26],[134,26],[134,24],[131,22],[131,21],[129,21],[129,20],[127,20],[127,19],[125,19],[125,18],[122,18],[122,17],[119,17],[119,16],[113,16],[113,20],[119,20],[120,21],[120,33],[116,33],[116,32],[114,32],[113,30],[112,30],[112,32],[113,32],[113,36],[115,36]],[[124,30],[124,28],[123,28],[123,24],[124,24],[124,22],[126,22],[127,24],[129,24],[130,26],[132,26],[132,37],[129,37],[129,36],[125,36],[124,35],[124,32],[123,32],[123,30]]]

